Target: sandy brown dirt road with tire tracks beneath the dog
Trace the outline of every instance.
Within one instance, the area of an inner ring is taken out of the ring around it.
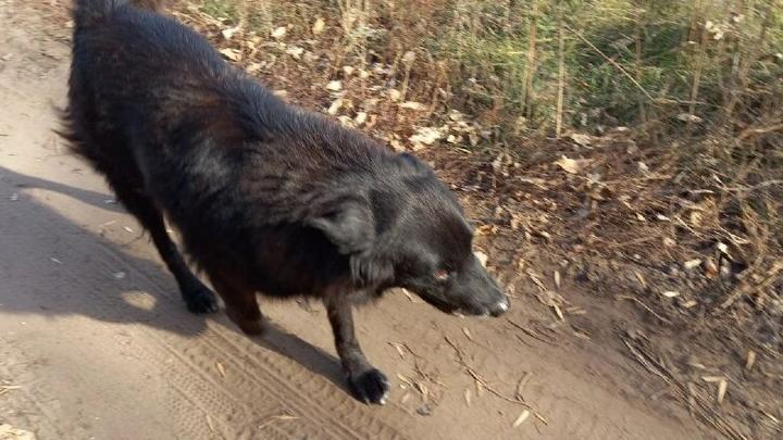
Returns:
[[[0,0],[0,424],[40,439],[705,437],[609,350],[401,293],[359,313],[368,355],[394,381],[383,407],[346,391],[319,304],[263,303],[278,326],[264,339],[222,313],[188,314],[139,226],[52,133],[64,9]],[[511,319],[539,317],[527,302]],[[526,407],[494,392],[513,397],[526,375],[540,418],[514,427]]]

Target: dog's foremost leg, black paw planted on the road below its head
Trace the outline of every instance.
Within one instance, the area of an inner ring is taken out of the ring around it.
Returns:
[[[351,391],[364,403],[386,403],[389,384],[386,376],[370,365],[353,331],[351,302],[347,294],[333,292],[324,299],[334,331],[337,354]]]

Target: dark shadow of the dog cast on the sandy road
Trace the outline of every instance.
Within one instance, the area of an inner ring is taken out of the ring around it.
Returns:
[[[162,264],[134,256],[122,246],[75,225],[25,193],[26,188],[57,191],[111,212],[124,212],[121,206],[104,202],[113,199],[110,194],[0,167],[0,193],[17,193],[13,201],[0,201],[0,212],[9,213],[0,218],[0,263],[16,263],[5,274],[10,282],[3,281],[0,317],[8,313],[78,314],[101,322],[142,324],[184,336],[204,332],[207,322],[213,320],[349,393],[335,356],[275,323],[269,323],[263,336],[246,337],[222,311],[204,316],[187,312],[174,278]],[[105,267],[107,261],[111,271],[116,272],[96,273],[96,267]],[[36,294],[29,294],[32,291]],[[148,303],[152,305],[139,306],[133,300],[138,292],[149,293]]]

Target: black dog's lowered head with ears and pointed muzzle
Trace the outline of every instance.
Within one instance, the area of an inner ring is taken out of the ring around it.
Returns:
[[[473,229],[457,198],[427,165],[400,154],[356,188],[310,225],[349,256],[357,287],[403,287],[444,312],[498,316],[508,310],[508,298],[473,253]]]

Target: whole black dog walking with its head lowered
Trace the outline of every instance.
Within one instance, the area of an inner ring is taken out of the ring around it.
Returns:
[[[508,309],[425,164],[284,103],[153,9],[76,1],[66,136],[150,232],[190,311],[216,300],[164,214],[245,332],[263,330],[256,292],[321,298],[365,402],[383,403],[388,381],[359,348],[352,304],[405,287],[445,312]]]

